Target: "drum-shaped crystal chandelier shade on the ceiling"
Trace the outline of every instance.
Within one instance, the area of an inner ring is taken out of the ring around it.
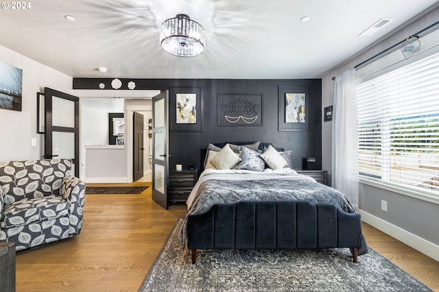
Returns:
[[[204,28],[200,23],[189,19],[186,14],[177,14],[174,19],[163,21],[160,45],[174,56],[198,56],[206,47]]]

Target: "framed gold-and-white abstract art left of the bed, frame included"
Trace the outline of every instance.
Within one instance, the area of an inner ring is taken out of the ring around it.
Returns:
[[[169,113],[169,131],[203,132],[201,87],[171,87]]]

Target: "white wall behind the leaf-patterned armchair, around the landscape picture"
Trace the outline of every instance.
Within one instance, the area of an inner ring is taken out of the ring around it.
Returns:
[[[43,134],[36,134],[36,93],[50,87],[71,93],[72,77],[0,45],[0,62],[23,70],[22,111],[0,109],[0,161],[43,158]],[[31,139],[36,138],[36,146]]]

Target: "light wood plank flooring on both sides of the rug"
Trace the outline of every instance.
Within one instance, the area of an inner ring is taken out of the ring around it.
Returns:
[[[87,184],[87,186],[146,185]],[[139,195],[86,195],[82,234],[16,254],[16,291],[138,291],[185,204]],[[439,291],[439,263],[364,223],[368,245]],[[361,260],[361,256],[359,257]],[[1,289],[0,289],[1,290]]]

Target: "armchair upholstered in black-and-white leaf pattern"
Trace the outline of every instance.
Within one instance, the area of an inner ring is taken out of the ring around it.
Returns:
[[[71,160],[0,162],[0,242],[25,250],[81,233],[85,182]]]

